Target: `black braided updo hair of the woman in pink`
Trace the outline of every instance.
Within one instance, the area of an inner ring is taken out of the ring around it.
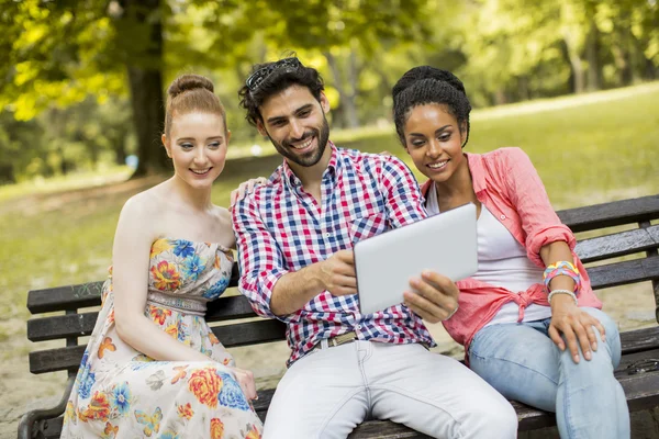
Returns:
[[[399,139],[405,146],[404,126],[410,111],[428,103],[446,105],[456,117],[460,131],[466,127],[467,136],[462,147],[469,140],[469,113],[471,104],[467,99],[465,86],[454,74],[431,66],[414,67],[398,80],[391,90],[393,98],[393,122]]]

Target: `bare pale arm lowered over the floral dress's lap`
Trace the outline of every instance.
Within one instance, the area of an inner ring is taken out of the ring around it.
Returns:
[[[124,205],[112,249],[114,322],[119,337],[135,350],[163,361],[209,361],[205,354],[171,338],[144,315],[149,254],[156,217],[144,194]]]

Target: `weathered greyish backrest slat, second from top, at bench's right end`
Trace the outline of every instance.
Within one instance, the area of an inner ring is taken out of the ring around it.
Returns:
[[[659,225],[654,225],[647,228],[583,239],[577,243],[574,251],[579,255],[581,261],[587,263],[657,247],[659,247]]]

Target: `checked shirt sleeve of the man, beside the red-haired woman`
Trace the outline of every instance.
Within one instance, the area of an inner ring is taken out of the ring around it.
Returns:
[[[288,322],[270,309],[275,284],[288,270],[283,269],[279,246],[258,210],[259,193],[257,190],[246,195],[232,209],[241,269],[238,290],[249,300],[256,314]]]

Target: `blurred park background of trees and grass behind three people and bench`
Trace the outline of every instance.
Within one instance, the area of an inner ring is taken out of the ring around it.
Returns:
[[[465,82],[467,150],[524,148],[556,209],[658,192],[656,0],[0,0],[0,437],[63,390],[64,374],[27,371],[26,292],[105,275],[121,206],[170,176],[163,99],[180,74],[211,78],[227,110],[222,205],[280,162],[237,90],[254,63],[291,50],[323,75],[339,146],[412,167],[390,93],[428,64]],[[652,324],[644,288],[600,293],[622,327]],[[287,356],[283,344],[236,349],[261,386]]]

